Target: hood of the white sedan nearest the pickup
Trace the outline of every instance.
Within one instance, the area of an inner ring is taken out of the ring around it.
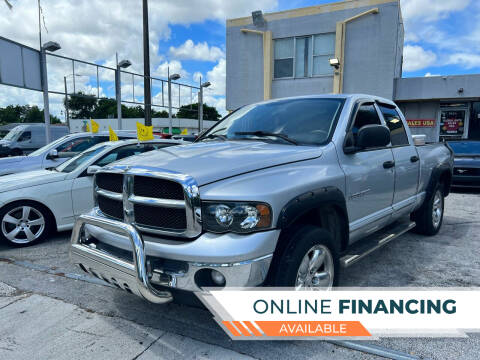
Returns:
[[[27,171],[0,177],[0,193],[62,181],[68,174],[50,170]]]

